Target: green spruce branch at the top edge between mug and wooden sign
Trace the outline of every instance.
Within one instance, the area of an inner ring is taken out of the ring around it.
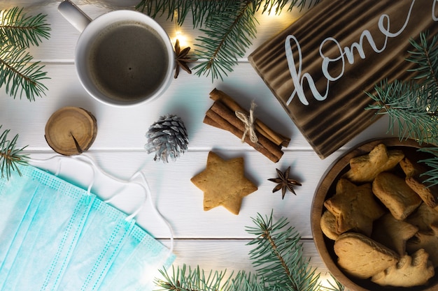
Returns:
[[[232,72],[239,57],[243,57],[257,32],[255,13],[276,13],[282,10],[311,7],[319,0],[141,0],[136,9],[159,17],[167,15],[182,25],[192,15],[193,28],[201,27],[206,36],[195,40],[196,59],[205,61],[195,67],[198,76],[222,79]],[[174,12],[177,13],[174,13]]]

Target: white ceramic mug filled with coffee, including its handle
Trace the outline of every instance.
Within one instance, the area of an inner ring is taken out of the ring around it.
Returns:
[[[134,10],[91,20],[69,0],[58,6],[80,31],[76,72],[85,90],[107,105],[139,105],[160,96],[173,78],[175,55],[166,31]]]

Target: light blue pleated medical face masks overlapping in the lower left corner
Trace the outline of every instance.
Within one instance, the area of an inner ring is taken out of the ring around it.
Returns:
[[[0,182],[0,290],[152,290],[174,261],[135,214],[35,167],[20,171]]]

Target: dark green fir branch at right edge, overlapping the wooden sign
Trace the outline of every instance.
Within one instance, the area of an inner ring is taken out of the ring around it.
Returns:
[[[429,33],[420,34],[420,43],[410,40],[415,50],[409,51],[410,61],[416,66],[411,82],[383,80],[376,85],[375,94],[367,95],[374,100],[366,110],[376,114],[388,114],[388,131],[393,133],[397,124],[400,140],[412,138],[423,142],[438,142],[438,64],[437,37],[430,40]]]

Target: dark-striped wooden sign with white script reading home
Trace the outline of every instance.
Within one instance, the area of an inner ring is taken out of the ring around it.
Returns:
[[[320,158],[372,122],[381,80],[408,80],[409,38],[438,33],[435,0],[324,0],[250,54]]]

